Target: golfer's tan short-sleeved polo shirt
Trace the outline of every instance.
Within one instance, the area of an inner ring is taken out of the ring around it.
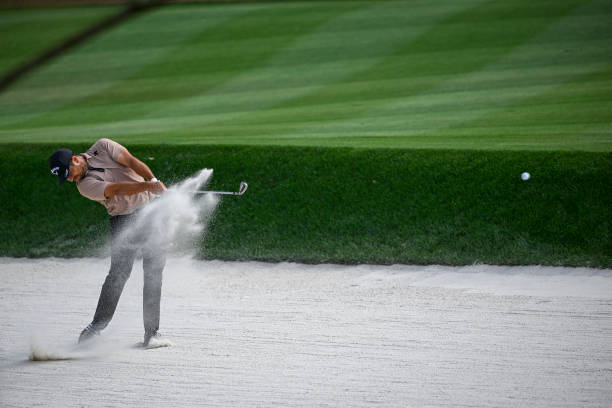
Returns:
[[[76,183],[79,193],[102,204],[110,215],[131,214],[154,198],[154,195],[148,191],[132,195],[104,197],[104,190],[108,183],[145,181],[134,170],[117,163],[117,158],[124,149],[125,147],[110,139],[100,139],[87,152],[82,153],[90,170],[81,181]],[[104,171],[91,170],[92,167],[101,168]]]

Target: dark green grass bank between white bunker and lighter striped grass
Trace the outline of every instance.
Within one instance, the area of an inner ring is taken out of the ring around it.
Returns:
[[[105,254],[105,209],[71,183],[58,188],[47,166],[57,147],[0,145],[4,256]],[[249,183],[244,196],[222,200],[196,249],[203,258],[612,266],[607,153],[165,145],[130,151],[168,185],[204,167],[215,169],[212,189]],[[520,179],[523,171],[532,174],[529,181]]]

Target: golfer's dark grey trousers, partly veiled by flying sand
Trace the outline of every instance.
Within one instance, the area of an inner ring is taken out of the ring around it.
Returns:
[[[135,217],[136,214],[129,214],[117,215],[110,219],[111,267],[102,285],[98,307],[92,321],[92,326],[96,330],[104,329],[113,318],[139,250],[142,251],[144,270],[142,306],[145,332],[155,333],[159,329],[162,271],[166,265],[166,254],[163,248],[150,247],[147,236],[152,231],[129,232],[128,230],[127,236],[123,234]]]

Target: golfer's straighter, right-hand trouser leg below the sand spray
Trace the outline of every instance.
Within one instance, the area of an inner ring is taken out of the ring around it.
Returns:
[[[163,249],[159,251],[143,251],[144,286],[142,288],[142,316],[145,333],[155,333],[159,329],[162,274],[165,265],[166,254]]]

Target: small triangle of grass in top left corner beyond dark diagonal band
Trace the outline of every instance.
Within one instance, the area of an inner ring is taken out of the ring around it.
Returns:
[[[0,8],[0,75],[117,9],[116,6]]]

